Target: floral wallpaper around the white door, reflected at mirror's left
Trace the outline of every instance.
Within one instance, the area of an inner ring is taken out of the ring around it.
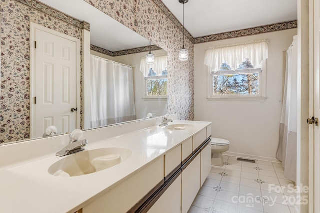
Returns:
[[[81,29],[15,0],[0,2],[0,143],[5,143],[28,139],[30,134],[30,22],[79,39]]]

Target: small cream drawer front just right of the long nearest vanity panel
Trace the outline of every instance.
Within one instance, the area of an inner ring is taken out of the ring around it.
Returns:
[[[178,166],[181,166],[181,145],[164,155],[164,177],[167,177]]]

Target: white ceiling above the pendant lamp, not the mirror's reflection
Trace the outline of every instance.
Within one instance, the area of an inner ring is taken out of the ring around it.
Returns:
[[[182,23],[182,4],[162,2]],[[189,0],[184,4],[184,28],[193,37],[296,19],[297,0]]]

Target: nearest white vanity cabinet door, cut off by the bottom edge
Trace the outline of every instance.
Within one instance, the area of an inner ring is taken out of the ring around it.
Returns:
[[[161,195],[148,213],[180,213],[181,204],[181,175]]]

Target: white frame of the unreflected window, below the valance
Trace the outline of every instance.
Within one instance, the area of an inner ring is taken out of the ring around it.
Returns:
[[[239,70],[239,69],[236,69]],[[226,73],[229,74],[229,73]],[[243,74],[235,71],[234,74]],[[233,75],[234,75],[233,74]],[[223,75],[223,74],[222,74]],[[207,66],[207,97],[208,101],[264,101],[266,99],[266,60],[261,62],[261,72],[259,75],[259,94],[243,95],[243,94],[213,94],[213,76],[211,67]]]

